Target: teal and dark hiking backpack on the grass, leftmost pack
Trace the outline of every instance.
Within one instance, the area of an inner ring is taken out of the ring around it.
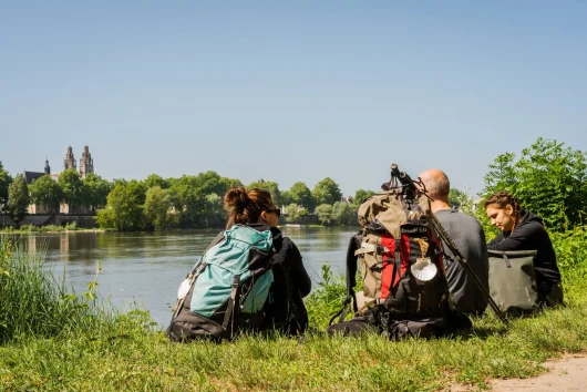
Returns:
[[[220,341],[285,324],[289,286],[285,268],[271,260],[271,231],[237,225],[210,245],[179,286],[168,338]]]

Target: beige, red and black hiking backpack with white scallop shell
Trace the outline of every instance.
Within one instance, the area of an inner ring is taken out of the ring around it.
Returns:
[[[401,188],[363,202],[358,214],[363,230],[351,238],[347,250],[348,297],[340,322],[329,327],[329,332],[353,334],[369,324],[390,338],[430,337],[444,333],[450,326],[471,327],[466,317],[452,310],[431,214],[425,195],[409,198]],[[359,297],[364,303],[358,303],[354,293],[358,261],[363,283]],[[356,319],[344,323],[350,305]],[[357,324],[363,326],[353,331]]]

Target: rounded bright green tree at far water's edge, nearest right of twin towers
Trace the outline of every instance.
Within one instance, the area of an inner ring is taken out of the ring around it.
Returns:
[[[119,182],[107,196],[106,208],[97,213],[97,224],[102,228],[121,231],[144,228],[145,186],[137,180]]]

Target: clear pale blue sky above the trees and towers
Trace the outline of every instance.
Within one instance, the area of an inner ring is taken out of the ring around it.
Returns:
[[[587,2],[2,1],[0,161],[483,187],[538,136],[587,149]]]

